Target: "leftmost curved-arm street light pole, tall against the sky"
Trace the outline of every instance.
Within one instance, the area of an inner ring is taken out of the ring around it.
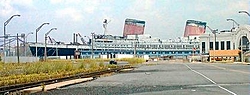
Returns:
[[[5,57],[6,57],[6,51],[5,51],[5,39],[8,38],[8,36],[6,35],[6,26],[9,24],[10,20],[13,19],[14,17],[20,17],[21,15],[16,14],[16,15],[12,15],[7,21],[4,22],[4,27],[3,27],[3,36],[4,36],[4,46],[3,46],[3,51],[4,51],[4,63],[5,63]]]

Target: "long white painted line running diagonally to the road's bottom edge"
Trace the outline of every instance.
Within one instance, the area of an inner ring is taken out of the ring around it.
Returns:
[[[209,80],[210,82],[212,82],[213,84],[215,84],[215,85],[216,85],[217,87],[219,87],[220,89],[223,89],[223,90],[227,91],[228,93],[230,93],[230,94],[232,94],[232,95],[237,95],[237,94],[234,93],[233,91],[230,91],[230,90],[228,90],[228,89],[226,89],[226,88],[224,88],[224,87],[218,85],[216,82],[214,82],[212,79],[208,78],[208,77],[205,76],[204,74],[202,74],[202,73],[200,73],[200,72],[198,72],[198,71],[196,71],[196,70],[193,70],[193,69],[192,69],[190,66],[188,66],[187,64],[185,64],[185,66],[186,66],[188,69],[190,69],[191,71],[193,71],[193,72],[195,72],[195,73],[201,75],[202,77],[206,78],[207,80]]]

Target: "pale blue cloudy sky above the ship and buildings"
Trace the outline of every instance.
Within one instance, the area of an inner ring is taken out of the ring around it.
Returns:
[[[6,26],[6,34],[33,32],[27,40],[35,42],[35,30],[48,22],[38,32],[38,42],[44,42],[44,34],[57,28],[49,36],[70,43],[73,33],[104,34],[104,19],[110,20],[108,34],[122,36],[125,19],[132,18],[146,22],[145,34],[174,39],[183,37],[187,20],[204,21],[219,30],[232,28],[233,22],[227,18],[250,24],[248,15],[238,13],[250,12],[249,5],[250,0],[1,0],[0,29],[3,31],[4,22],[12,15],[19,14]]]

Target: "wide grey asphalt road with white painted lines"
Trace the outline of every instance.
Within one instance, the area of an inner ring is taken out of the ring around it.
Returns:
[[[250,65],[151,62],[133,71],[35,94],[249,95]]]

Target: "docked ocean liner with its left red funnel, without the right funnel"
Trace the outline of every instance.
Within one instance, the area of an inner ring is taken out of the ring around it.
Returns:
[[[85,41],[79,33],[73,34],[73,42],[65,44],[54,43],[29,43],[33,56],[64,57],[68,58],[115,58],[117,54],[130,54],[136,57],[148,55],[150,58],[187,58],[197,55],[199,40],[196,37],[178,37],[176,39],[160,39],[144,34],[145,22],[135,19],[126,19],[123,36],[107,34],[106,19],[103,22],[104,34],[91,33]],[[81,43],[78,42],[78,37]],[[46,49],[45,49],[46,48]],[[45,53],[46,50],[46,53]]]

